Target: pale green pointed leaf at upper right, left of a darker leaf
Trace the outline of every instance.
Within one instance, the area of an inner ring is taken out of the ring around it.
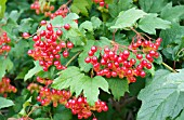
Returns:
[[[142,10],[136,10],[135,8],[130,9],[128,11],[122,11],[118,15],[118,19],[116,21],[115,26],[111,26],[110,28],[127,28],[132,27],[135,22],[140,18],[142,18],[144,15],[146,15]]]

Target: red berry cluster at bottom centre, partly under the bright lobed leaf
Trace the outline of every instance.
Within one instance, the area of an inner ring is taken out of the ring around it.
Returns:
[[[87,119],[92,116],[93,111],[107,111],[108,107],[105,102],[97,101],[95,102],[94,106],[90,106],[87,103],[86,97],[74,97],[73,99],[69,99],[67,104],[65,105],[66,108],[71,109],[71,112],[74,115],[78,115],[78,119]],[[93,120],[97,120],[96,118],[93,118]]]

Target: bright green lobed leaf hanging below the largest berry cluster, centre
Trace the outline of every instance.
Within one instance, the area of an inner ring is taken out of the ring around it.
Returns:
[[[71,93],[80,95],[83,91],[84,96],[90,105],[98,99],[100,90],[108,92],[107,81],[100,76],[90,78],[80,72],[78,67],[68,67],[66,70],[60,72],[61,76],[56,78],[52,84],[52,88],[63,90],[70,89]]]

